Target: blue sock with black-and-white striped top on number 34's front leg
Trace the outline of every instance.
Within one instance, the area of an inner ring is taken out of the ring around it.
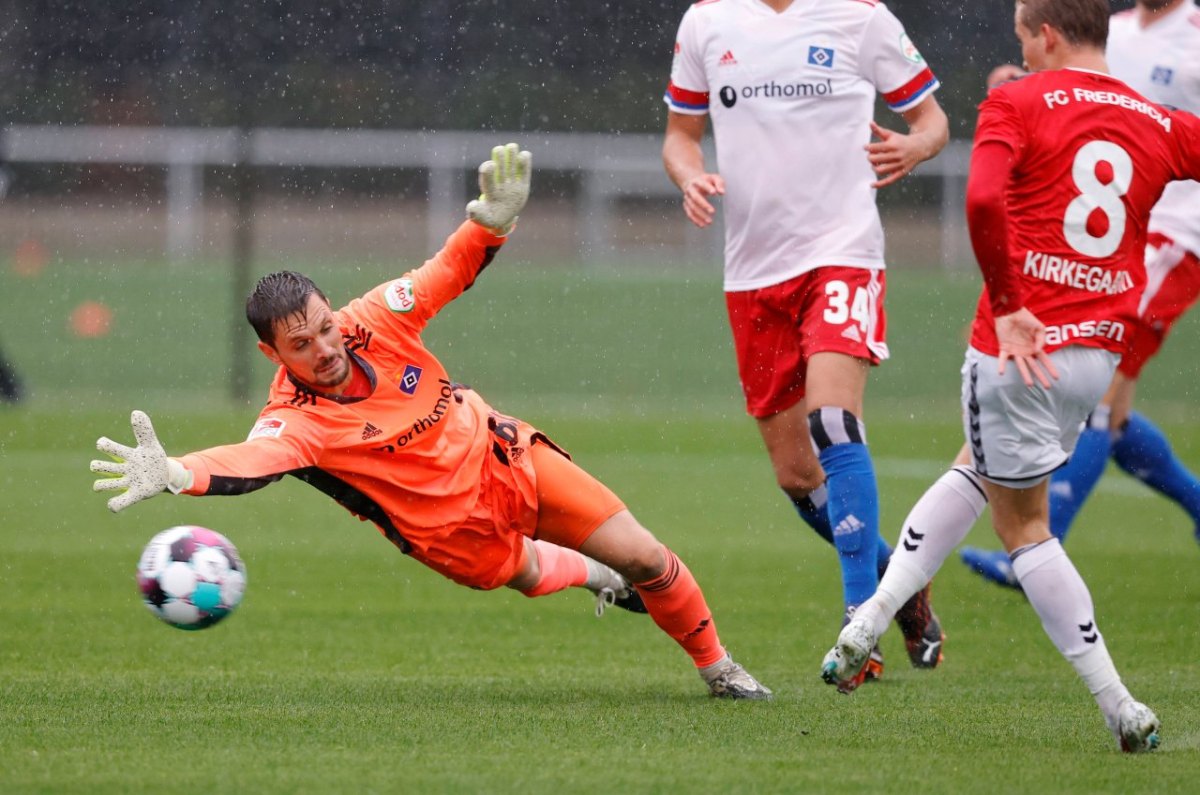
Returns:
[[[826,471],[829,525],[841,561],[846,606],[869,599],[878,585],[880,502],[863,424],[840,408],[809,414],[809,429]]]

